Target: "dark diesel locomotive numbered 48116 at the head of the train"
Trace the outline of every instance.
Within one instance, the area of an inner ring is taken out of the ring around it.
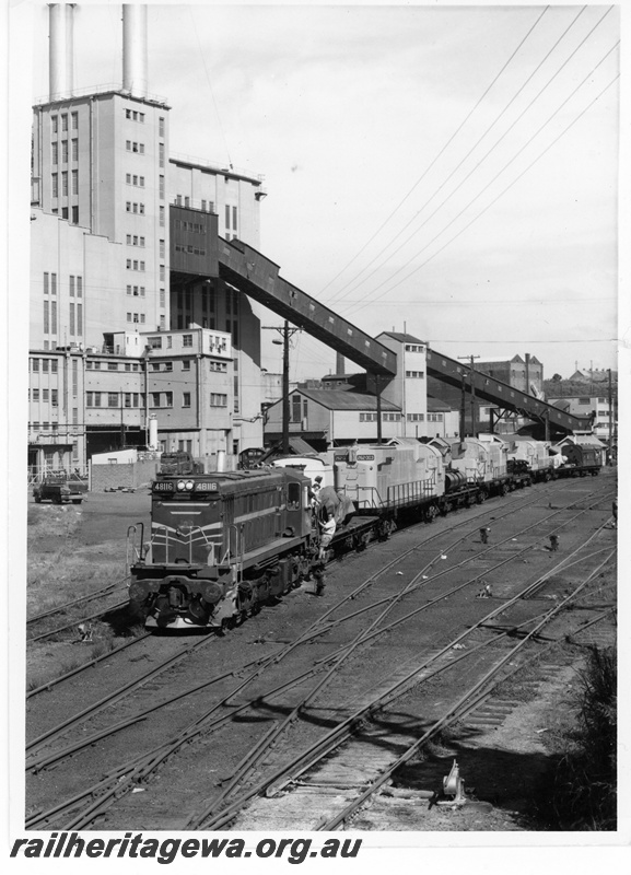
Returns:
[[[157,629],[225,628],[315,563],[311,480],[295,470],[159,475],[151,536],[128,533],[130,600]]]

